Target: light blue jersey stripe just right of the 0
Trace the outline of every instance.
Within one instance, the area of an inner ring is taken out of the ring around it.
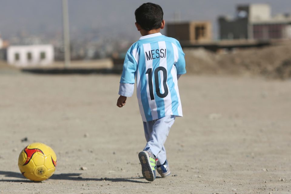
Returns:
[[[167,48],[167,69],[168,69],[168,80],[167,84],[169,86],[169,93],[171,94],[171,100],[172,100],[172,112],[173,115],[179,115],[178,113],[178,106],[179,106],[179,100],[178,95],[175,90],[175,83],[173,82],[173,76],[171,74],[171,69],[174,65],[174,49],[171,42],[166,41],[166,48]]]

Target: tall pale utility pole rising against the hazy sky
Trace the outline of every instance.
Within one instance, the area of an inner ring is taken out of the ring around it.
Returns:
[[[63,1],[63,33],[64,33],[64,49],[65,49],[65,68],[70,65],[70,33],[69,33],[69,13],[68,0]]]

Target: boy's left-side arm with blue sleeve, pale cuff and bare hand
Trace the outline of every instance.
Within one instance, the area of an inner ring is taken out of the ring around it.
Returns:
[[[126,98],[131,97],[134,90],[135,72],[137,64],[133,56],[127,52],[123,64],[122,75],[120,79],[119,92],[116,105],[122,107],[126,103]]]

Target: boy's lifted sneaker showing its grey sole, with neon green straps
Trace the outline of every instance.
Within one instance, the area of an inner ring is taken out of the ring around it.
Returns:
[[[142,165],[143,177],[148,181],[154,181],[156,179],[156,157],[151,150],[139,152],[139,161]]]

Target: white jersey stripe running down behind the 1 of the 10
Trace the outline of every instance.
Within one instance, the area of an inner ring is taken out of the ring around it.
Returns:
[[[144,52],[148,52],[152,50],[151,49],[151,44],[143,44],[143,50]],[[146,53],[144,53],[145,56],[145,61],[146,61],[146,70],[149,68],[152,68],[152,60],[147,60],[146,59]],[[153,77],[153,76],[152,76]],[[146,78],[149,80],[149,76],[148,74],[146,75]],[[149,101],[149,107],[151,109],[152,112],[152,119],[158,119],[158,111],[157,111],[157,105],[156,105],[156,100],[151,100],[150,94],[149,94],[149,82],[146,82],[146,92],[147,92],[147,97],[148,97],[148,101]],[[153,80],[152,80],[152,84],[154,84]],[[154,88],[154,85],[152,86]]]

